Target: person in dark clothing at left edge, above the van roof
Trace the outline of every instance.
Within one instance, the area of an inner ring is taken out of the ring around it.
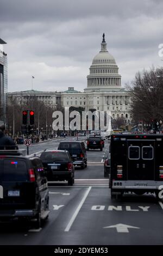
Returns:
[[[5,126],[0,126],[0,150],[18,149],[15,142],[7,135],[5,135]]]

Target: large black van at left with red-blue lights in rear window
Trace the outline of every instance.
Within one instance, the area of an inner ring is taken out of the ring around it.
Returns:
[[[0,219],[36,219],[36,228],[41,220],[48,218],[49,196],[47,178],[39,157],[22,156],[17,152],[0,151]]]

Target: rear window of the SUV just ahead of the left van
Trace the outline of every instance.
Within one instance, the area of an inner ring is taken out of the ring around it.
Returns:
[[[43,152],[40,156],[42,161],[67,161],[68,156],[65,152]]]

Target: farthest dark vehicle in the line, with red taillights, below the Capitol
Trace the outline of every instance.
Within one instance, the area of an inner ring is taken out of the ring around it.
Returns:
[[[87,150],[89,149],[100,149],[104,148],[104,139],[101,136],[90,136],[87,139]]]

